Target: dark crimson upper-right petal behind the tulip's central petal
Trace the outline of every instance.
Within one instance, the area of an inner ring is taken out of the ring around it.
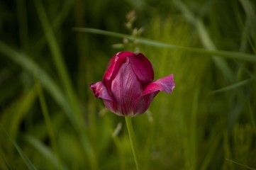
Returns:
[[[148,85],[153,81],[152,65],[142,53],[135,53],[134,57],[130,57],[129,62],[132,64],[133,72],[143,84]]]

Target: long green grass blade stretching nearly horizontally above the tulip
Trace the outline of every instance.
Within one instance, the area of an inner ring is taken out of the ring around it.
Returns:
[[[94,28],[73,28],[73,30],[78,32],[83,32],[83,33],[94,33],[94,34],[106,35],[106,36],[111,36],[116,38],[127,38],[128,40],[136,40],[141,44],[151,45],[155,47],[165,47],[165,48],[171,48],[175,50],[186,50],[189,52],[198,52],[204,55],[217,55],[219,57],[226,57],[232,60],[256,62],[256,55],[251,55],[243,52],[230,52],[230,51],[224,51],[224,50],[205,50],[203,48],[197,48],[197,47],[184,47],[179,45],[171,45],[165,42],[150,40],[147,38],[136,38],[132,35],[115,33],[107,30],[99,30]]]

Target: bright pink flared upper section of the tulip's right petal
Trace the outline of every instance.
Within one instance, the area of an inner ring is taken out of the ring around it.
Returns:
[[[174,89],[174,79],[173,74],[170,74],[167,77],[163,77],[162,79],[157,79],[156,81],[148,84],[148,86],[144,89],[141,96],[146,94],[151,94],[155,91],[165,91],[168,94],[172,93]]]

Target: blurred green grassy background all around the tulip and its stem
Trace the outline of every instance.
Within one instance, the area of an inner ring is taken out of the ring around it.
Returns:
[[[122,50],[176,83],[132,119],[140,169],[256,169],[255,7],[1,0],[0,169],[135,169],[124,118],[89,90]]]

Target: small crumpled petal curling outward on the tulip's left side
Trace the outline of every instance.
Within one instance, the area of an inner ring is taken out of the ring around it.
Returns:
[[[116,105],[113,102],[113,98],[109,94],[108,89],[106,89],[106,86],[103,84],[102,81],[91,84],[90,89],[94,92],[94,96],[96,98],[101,98],[102,100],[104,100],[104,105],[106,106],[106,108],[108,108],[108,110],[114,113],[116,112]]]

